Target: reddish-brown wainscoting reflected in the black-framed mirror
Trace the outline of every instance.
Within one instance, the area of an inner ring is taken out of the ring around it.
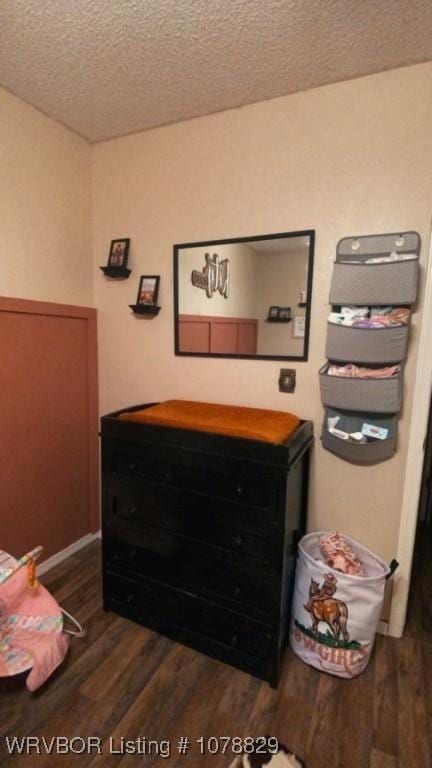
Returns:
[[[256,355],[258,320],[215,315],[180,315],[180,352]]]

